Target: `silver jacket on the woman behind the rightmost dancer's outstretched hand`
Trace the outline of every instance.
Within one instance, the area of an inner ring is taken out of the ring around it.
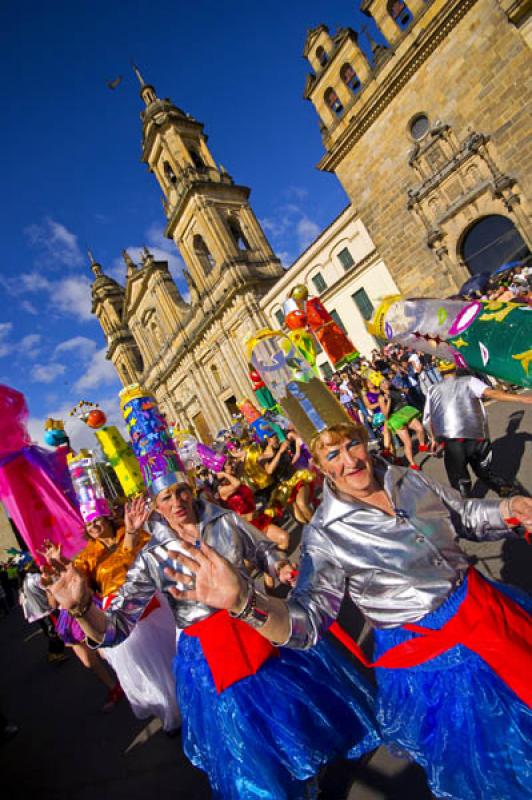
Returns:
[[[285,560],[273,542],[264,539],[260,531],[233,511],[200,500],[196,503],[199,518],[199,539],[217,550],[237,567],[246,560],[271,575],[275,565]],[[106,611],[107,627],[101,647],[119,644],[130,633],[156,591],[167,592],[171,586],[180,587],[164,574],[172,566],[178,572],[190,575],[190,570],[175,561],[169,561],[166,550],[185,552],[172,529],[162,521],[150,525],[152,538],[133,562],[125,583]],[[175,600],[168,595],[178,628],[207,619],[217,609],[193,600]],[[94,644],[94,643],[93,643]]]

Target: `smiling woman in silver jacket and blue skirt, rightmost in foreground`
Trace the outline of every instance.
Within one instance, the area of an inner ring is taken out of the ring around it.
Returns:
[[[349,646],[333,623],[347,591],[374,628],[375,660],[359,655],[377,667],[385,740],[425,767],[437,797],[530,798],[531,604],[482,578],[457,539],[522,535],[532,500],[466,500],[419,473],[376,466],[366,436],[337,425],[312,443],[327,480],[288,603],[261,595],[206,547],[180,557],[196,579],[179,596],[242,620],[258,608],[264,636],[307,648],[329,628]]]

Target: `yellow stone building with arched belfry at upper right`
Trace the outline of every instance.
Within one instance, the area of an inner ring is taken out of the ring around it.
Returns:
[[[530,0],[364,0],[387,40],[309,31],[305,97],[400,290],[446,296],[532,241]]]

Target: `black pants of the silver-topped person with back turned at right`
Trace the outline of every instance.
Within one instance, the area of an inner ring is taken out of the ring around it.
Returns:
[[[491,469],[491,442],[489,439],[444,439],[443,460],[449,483],[463,497],[471,492],[471,477],[468,465],[490,489],[507,495],[512,489],[511,481],[496,475]]]

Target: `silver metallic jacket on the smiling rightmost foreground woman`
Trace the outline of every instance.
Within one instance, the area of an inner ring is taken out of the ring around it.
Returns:
[[[376,469],[395,508],[335,494],[330,485],[303,529],[297,586],[288,607],[288,647],[313,646],[336,618],[345,591],[375,628],[416,622],[462,582],[468,557],[456,539],[512,536],[498,500],[463,500],[412,470]]]

